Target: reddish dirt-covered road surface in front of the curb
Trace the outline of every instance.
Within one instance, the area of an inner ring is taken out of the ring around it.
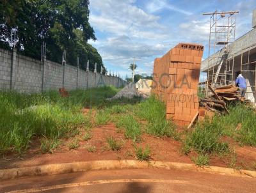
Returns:
[[[256,179],[192,171],[122,169],[0,181],[0,192],[256,192]]]

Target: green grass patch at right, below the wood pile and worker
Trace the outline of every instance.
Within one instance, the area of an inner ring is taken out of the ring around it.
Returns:
[[[184,153],[227,153],[229,145],[221,137],[229,136],[241,145],[256,146],[256,114],[243,104],[228,107],[230,113],[215,116],[213,120],[197,123],[195,130],[186,136]]]

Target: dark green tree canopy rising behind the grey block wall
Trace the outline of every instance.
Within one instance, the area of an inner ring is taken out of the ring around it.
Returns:
[[[47,59],[61,63],[67,50],[67,63],[79,64],[100,71],[102,58],[88,43],[96,40],[89,23],[89,0],[2,0],[0,2],[0,46],[10,47],[12,29],[17,30],[17,50],[33,58],[40,58],[41,45],[46,43]],[[105,70],[105,69],[104,69]]]

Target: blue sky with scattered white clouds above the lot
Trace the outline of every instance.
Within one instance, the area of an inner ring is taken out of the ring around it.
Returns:
[[[152,73],[154,59],[179,42],[201,43],[207,58],[209,17],[204,12],[239,10],[236,38],[252,29],[255,0],[91,0],[90,23],[104,65],[124,78],[132,58],[136,73]]]

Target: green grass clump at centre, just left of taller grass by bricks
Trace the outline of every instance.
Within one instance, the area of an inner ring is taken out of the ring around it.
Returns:
[[[132,139],[133,141],[140,141],[140,124],[134,119],[131,114],[120,116],[120,118],[116,122],[116,127],[123,128],[125,130],[125,137],[127,139]]]

